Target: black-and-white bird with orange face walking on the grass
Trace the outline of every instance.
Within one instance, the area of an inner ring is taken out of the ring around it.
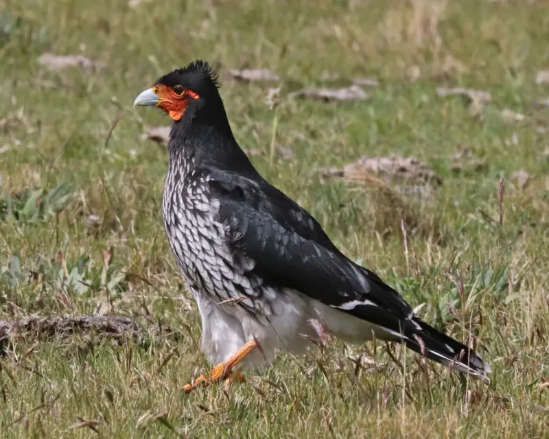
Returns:
[[[185,392],[268,365],[281,352],[305,353],[329,334],[361,344],[374,337],[452,370],[489,381],[489,364],[423,322],[375,272],[345,256],[322,226],[270,185],[237,143],[205,60],[163,75],[135,106],[172,119],[163,221],[176,264],[202,320],[210,372]],[[305,337],[303,336],[305,335]]]

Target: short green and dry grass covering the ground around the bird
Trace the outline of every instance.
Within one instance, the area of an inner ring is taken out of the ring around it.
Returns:
[[[546,8],[518,0],[2,3],[1,318],[100,308],[170,325],[180,337],[22,337],[0,359],[1,436],[97,436],[93,427],[108,438],[546,437],[549,137],[541,128],[549,110],[531,106],[549,95],[535,82],[549,68]],[[107,67],[50,72],[37,61],[44,52]],[[349,257],[412,305],[425,304],[425,320],[463,341],[472,334],[493,367],[489,385],[380,342],[334,341],[281,357],[229,392],[182,393],[206,367],[200,321],[161,221],[166,153],[141,139],[145,126],[167,120],[132,102],[195,58],[281,75],[274,142],[295,158],[270,161],[268,84],[223,81],[238,141],[264,152],[253,157],[259,171]],[[368,102],[284,98],[320,84],[323,73],[380,85]],[[489,91],[492,102],[474,117],[459,97],[438,97],[437,86]],[[504,108],[526,119],[506,123]],[[486,166],[452,172],[463,146]],[[409,232],[408,254],[400,219],[375,193],[312,173],[393,153],[445,179],[432,202],[414,206],[432,230]],[[520,169],[532,176],[523,189],[510,179]],[[358,368],[360,356],[375,364]]]

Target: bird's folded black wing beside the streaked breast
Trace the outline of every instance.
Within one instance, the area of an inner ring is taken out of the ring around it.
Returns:
[[[412,316],[393,288],[347,259],[316,219],[261,177],[215,170],[209,185],[233,234],[233,251],[253,259],[253,272],[268,285],[296,289],[382,326],[390,320],[396,330]]]

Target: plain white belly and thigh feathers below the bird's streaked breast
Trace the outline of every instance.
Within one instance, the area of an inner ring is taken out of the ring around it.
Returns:
[[[329,333],[347,342],[371,340],[374,333],[384,338],[376,325],[297,292],[281,295],[281,312],[268,318],[253,318],[234,303],[217,305],[200,293],[195,298],[202,316],[202,351],[212,364],[226,361],[250,340],[257,340],[262,352],[248,355],[240,369],[268,365],[279,352],[303,353],[312,346],[304,335],[318,338],[311,319],[324,322]]]

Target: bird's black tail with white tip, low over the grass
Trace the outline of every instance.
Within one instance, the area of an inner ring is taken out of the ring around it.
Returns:
[[[465,344],[430,327],[417,317],[406,320],[401,342],[407,348],[471,377],[488,382],[492,369]]]

